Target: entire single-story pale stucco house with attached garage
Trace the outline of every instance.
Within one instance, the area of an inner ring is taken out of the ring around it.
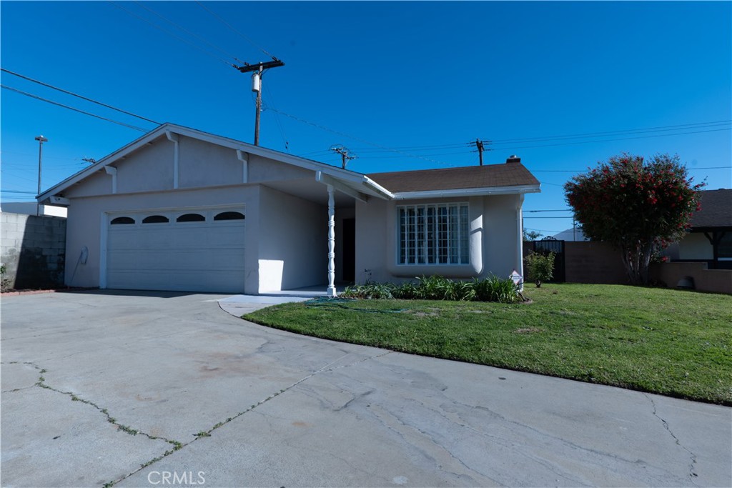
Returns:
[[[66,206],[69,286],[273,293],[522,272],[505,164],[365,175],[163,124],[39,195]]]

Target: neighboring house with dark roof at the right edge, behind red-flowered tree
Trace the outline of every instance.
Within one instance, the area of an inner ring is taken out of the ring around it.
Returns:
[[[706,262],[709,269],[732,269],[732,189],[701,192],[701,210],[692,215],[689,233],[665,255],[672,261]]]

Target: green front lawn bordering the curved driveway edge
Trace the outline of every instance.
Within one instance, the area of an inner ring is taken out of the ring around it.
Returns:
[[[359,300],[244,318],[405,353],[732,405],[732,297],[619,285],[527,285],[529,304]]]

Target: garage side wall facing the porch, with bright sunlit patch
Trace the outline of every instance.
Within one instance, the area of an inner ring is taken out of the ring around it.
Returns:
[[[323,194],[327,203],[325,186]],[[326,283],[327,232],[327,206],[261,187],[258,292]]]

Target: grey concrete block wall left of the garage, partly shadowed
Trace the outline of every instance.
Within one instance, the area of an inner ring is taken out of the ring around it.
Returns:
[[[0,212],[0,262],[7,288],[64,284],[66,219]]]

